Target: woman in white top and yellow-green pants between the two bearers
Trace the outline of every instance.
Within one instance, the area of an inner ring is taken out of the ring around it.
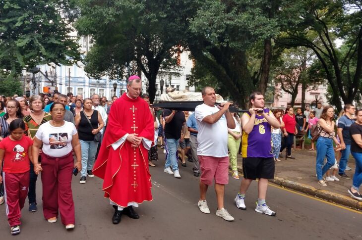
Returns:
[[[233,178],[239,179],[237,159],[238,159],[238,150],[241,142],[241,124],[240,124],[240,117],[236,112],[231,112],[230,114],[233,116],[235,122],[235,128],[234,129],[228,128],[229,159],[230,159],[231,169],[233,170]]]

